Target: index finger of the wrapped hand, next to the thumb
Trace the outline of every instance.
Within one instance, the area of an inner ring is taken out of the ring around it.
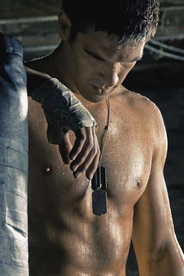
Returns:
[[[81,152],[82,147],[86,141],[85,127],[82,127],[75,131],[76,140],[73,145],[73,148],[69,154],[69,158],[74,160],[77,155]]]

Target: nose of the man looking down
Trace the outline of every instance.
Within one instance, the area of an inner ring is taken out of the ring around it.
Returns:
[[[99,78],[103,83],[103,86],[113,87],[118,81],[118,66],[114,65],[106,65],[103,70],[99,73]]]

